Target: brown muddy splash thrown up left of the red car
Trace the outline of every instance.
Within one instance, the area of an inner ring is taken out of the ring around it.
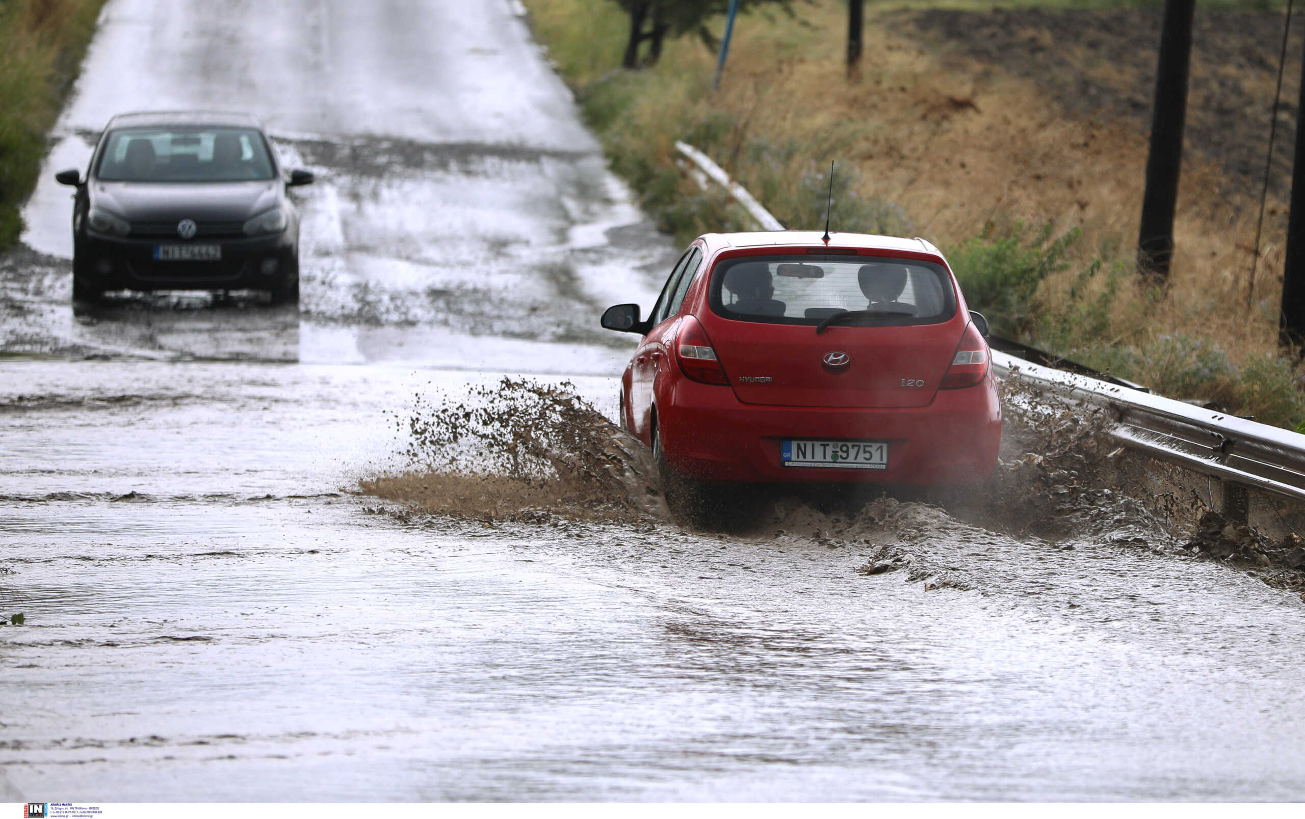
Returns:
[[[647,447],[569,381],[502,378],[462,396],[416,396],[398,420],[405,468],[364,492],[427,511],[483,519],[664,516]]]

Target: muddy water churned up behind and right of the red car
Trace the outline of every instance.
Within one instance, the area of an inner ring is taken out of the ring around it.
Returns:
[[[763,537],[853,548],[865,575],[899,573],[925,588],[1043,595],[1083,561],[1193,554],[1181,532],[1197,505],[1121,450],[1109,419],[1067,396],[1002,385],[1005,426],[992,481],[964,492],[889,492],[846,503],[776,498]]]

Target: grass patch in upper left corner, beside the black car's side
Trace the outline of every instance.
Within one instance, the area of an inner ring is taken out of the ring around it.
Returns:
[[[46,133],[77,78],[104,0],[0,1],[0,249],[22,232]]]

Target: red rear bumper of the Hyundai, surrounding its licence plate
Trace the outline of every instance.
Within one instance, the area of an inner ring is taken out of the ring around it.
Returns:
[[[856,410],[744,404],[726,386],[677,378],[658,395],[658,428],[676,471],[718,483],[937,485],[992,475],[1001,406],[983,383],[940,390],[925,407]],[[786,467],[784,438],[887,441],[885,469]]]

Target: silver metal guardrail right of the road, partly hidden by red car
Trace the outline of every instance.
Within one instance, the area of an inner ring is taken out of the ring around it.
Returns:
[[[762,228],[784,230],[702,151],[685,142],[676,142],[675,147],[701,173],[728,190]],[[1092,377],[1044,366],[1001,350],[992,350],[992,364],[1002,378],[1107,411],[1111,413],[1109,434],[1130,449],[1236,486],[1254,486],[1305,501],[1302,434],[1152,395],[1121,380],[1103,380],[1108,376]],[[1238,514],[1245,516],[1245,497],[1231,498],[1231,494],[1224,493],[1225,511],[1231,501],[1241,506]]]

